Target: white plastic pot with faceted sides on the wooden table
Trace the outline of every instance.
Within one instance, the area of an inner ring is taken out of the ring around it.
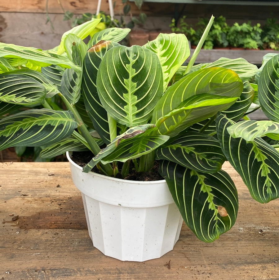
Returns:
[[[139,262],[173,249],[183,219],[165,180],[128,181],[84,173],[68,152],[67,158],[97,249],[116,259]]]

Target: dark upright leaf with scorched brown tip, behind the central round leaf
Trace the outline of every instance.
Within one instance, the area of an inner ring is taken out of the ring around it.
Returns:
[[[90,48],[83,61],[82,98],[95,130],[106,144],[110,143],[108,113],[100,102],[96,87],[97,72],[106,52],[119,46],[110,41],[100,41]]]

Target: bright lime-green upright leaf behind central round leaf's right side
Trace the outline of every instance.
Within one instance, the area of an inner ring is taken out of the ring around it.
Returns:
[[[144,45],[157,54],[163,71],[163,90],[165,91],[175,72],[190,55],[188,39],[184,34],[159,34]]]

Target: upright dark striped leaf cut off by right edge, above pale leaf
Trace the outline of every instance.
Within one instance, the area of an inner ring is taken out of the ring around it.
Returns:
[[[279,122],[279,54],[264,65],[259,76],[258,96],[264,114]]]

